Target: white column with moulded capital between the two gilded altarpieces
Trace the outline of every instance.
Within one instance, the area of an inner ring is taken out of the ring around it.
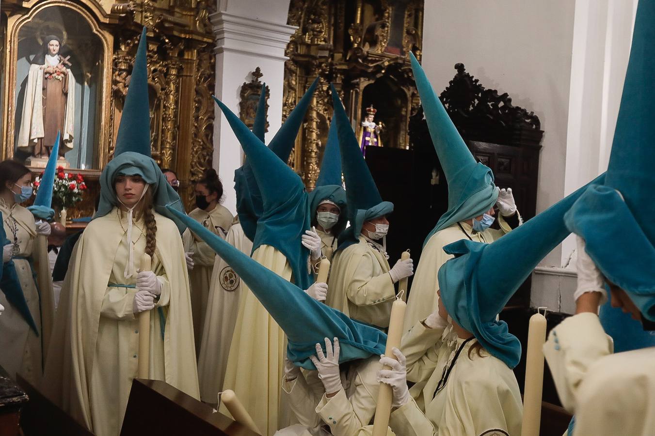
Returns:
[[[256,67],[260,67],[263,73],[260,80],[266,82],[271,92],[268,111],[270,125],[266,134],[268,141],[280,128],[282,122],[284,61],[288,59],[284,56],[284,50],[296,27],[286,25],[288,1],[279,2],[278,5],[267,5],[269,8],[284,9],[284,14],[281,10],[270,10],[271,14],[265,14],[280,21],[284,17],[283,22],[243,16],[244,10],[248,10],[244,3],[251,3],[251,10],[257,11],[256,14],[253,12],[252,16],[262,15],[265,12],[261,2],[240,1],[233,5],[241,14],[229,12],[229,8],[225,5],[224,8],[228,10],[222,9],[210,16],[216,39],[215,96],[238,115],[241,86],[244,82],[249,82],[252,79],[250,73]],[[227,119],[216,107],[213,166],[223,181],[225,192],[223,206],[232,213],[236,213],[234,170],[240,167],[242,162],[243,151]]]

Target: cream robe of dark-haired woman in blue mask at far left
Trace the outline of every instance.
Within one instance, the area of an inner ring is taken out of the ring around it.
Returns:
[[[19,204],[9,208],[0,200],[0,211],[7,239],[12,243],[12,228],[14,219],[16,220],[16,236],[20,249],[18,256],[33,261],[36,282],[27,259],[14,259],[14,264],[29,313],[39,330],[37,336],[20,313],[9,304],[5,294],[0,292],[0,304],[5,306],[5,312],[0,315],[0,365],[12,378],[20,372],[31,384],[38,386],[43,375],[43,360],[54,320],[52,278],[48,274],[48,241],[45,236],[37,235],[34,216],[28,209]]]

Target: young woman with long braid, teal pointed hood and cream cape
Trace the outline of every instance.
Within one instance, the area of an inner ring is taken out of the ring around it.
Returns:
[[[69,264],[45,368],[44,393],[99,436],[119,435],[138,374],[138,314],[150,311],[147,378],[198,398],[189,274],[169,205],[178,194],[150,157],[145,28],[98,211]],[[129,104],[128,104],[129,103]],[[143,255],[151,268],[141,270]]]

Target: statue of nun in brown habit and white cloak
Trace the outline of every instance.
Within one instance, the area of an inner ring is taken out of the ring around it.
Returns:
[[[18,149],[37,158],[50,156],[58,132],[60,155],[73,148],[75,77],[61,48],[62,39],[48,35],[29,66]]]

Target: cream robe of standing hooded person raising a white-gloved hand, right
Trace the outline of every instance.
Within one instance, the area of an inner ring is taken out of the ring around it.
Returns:
[[[519,215],[519,225],[522,223]],[[411,282],[411,289],[409,291],[409,299],[407,299],[407,311],[405,312],[405,323],[403,324],[403,331],[408,331],[420,319],[427,318],[432,312],[437,310],[439,306],[439,299],[437,298],[437,291],[439,290],[439,280],[437,274],[441,265],[446,263],[448,259],[453,256],[444,253],[443,247],[460,239],[468,239],[475,242],[494,242],[500,236],[512,231],[512,227],[508,225],[502,215],[498,214],[498,224],[500,230],[487,228],[484,232],[473,232],[473,228],[464,223],[459,224],[464,228],[464,232],[455,223],[450,227],[443,228],[430,237],[428,243],[421,251],[421,260],[414,273]],[[468,236],[468,238],[467,238]]]

